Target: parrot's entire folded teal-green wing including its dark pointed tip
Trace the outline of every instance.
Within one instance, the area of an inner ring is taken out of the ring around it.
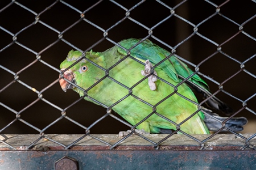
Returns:
[[[118,44],[126,49],[130,49],[139,41],[139,39],[127,39],[118,42]],[[126,55],[125,50],[121,48],[118,48],[117,50],[119,53]],[[159,63],[171,54],[167,50],[160,48],[160,46],[153,44],[150,40],[142,41],[140,44],[131,49],[130,52],[130,56],[137,58],[140,61],[146,61],[146,59],[149,59],[153,64]],[[180,61],[180,59],[175,56],[171,56],[158,67],[162,69],[168,76],[170,76],[170,78],[175,80],[175,82],[179,82],[179,79],[185,79],[194,73],[194,71],[189,69],[184,62]],[[202,94],[205,99],[212,95],[212,92],[210,92],[207,83],[197,74],[193,75],[185,83],[195,89],[196,92]],[[210,99],[208,99],[207,104],[210,107],[220,110],[226,114],[233,112],[232,108],[230,108],[227,104],[215,96],[212,96]]]

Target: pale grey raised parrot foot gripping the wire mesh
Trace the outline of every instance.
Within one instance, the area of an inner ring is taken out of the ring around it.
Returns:
[[[150,74],[151,68],[152,68],[152,63],[147,59],[145,62],[145,67],[144,70],[141,70],[141,74],[143,76],[147,76],[148,74]],[[148,77],[148,86],[150,87],[150,90],[156,90],[156,84],[155,81],[157,80],[156,78],[157,74],[156,71],[154,70],[154,74],[150,75]]]

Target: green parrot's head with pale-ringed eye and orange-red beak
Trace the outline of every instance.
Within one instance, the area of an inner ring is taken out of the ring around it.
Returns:
[[[91,50],[90,52],[87,52],[85,54],[85,57],[90,59],[90,61],[96,63],[97,65],[105,68],[104,57],[100,56],[99,53],[92,52]],[[66,70],[69,66],[71,66],[79,59],[81,59],[80,62],[76,63],[71,68]],[[78,92],[80,96],[84,94],[81,88],[86,90],[105,75],[104,70],[87,61],[84,57],[82,57],[81,52],[73,50],[68,53],[67,58],[60,64],[60,71],[64,70],[66,71],[63,73],[63,77],[69,80],[69,82],[64,79],[59,80],[62,90],[66,92],[67,89],[73,89],[74,91]],[[61,75],[62,74],[60,74],[60,76]],[[77,88],[76,86],[74,86],[74,84],[81,88]]]

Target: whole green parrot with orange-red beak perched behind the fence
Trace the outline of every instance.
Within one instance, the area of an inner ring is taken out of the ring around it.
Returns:
[[[61,88],[64,91],[72,88],[80,96],[86,93],[85,100],[94,104],[100,102],[106,108],[111,107],[133,126],[153,111],[162,115],[160,117],[154,113],[138,124],[135,128],[141,134],[166,133],[168,130],[176,130],[177,125],[188,134],[209,134],[204,122],[204,113],[197,108],[198,102],[191,89],[195,88],[204,97],[208,97],[212,94],[207,83],[197,74],[181,83],[184,78],[193,74],[193,71],[175,56],[154,67],[171,53],[150,40],[144,40],[134,46],[139,41],[127,39],[118,42],[125,49],[133,47],[128,56],[126,50],[118,46],[113,46],[105,52],[91,50],[85,53],[86,58],[82,57],[81,52],[71,50],[60,65],[61,71],[66,70],[60,76],[69,80],[67,82],[60,79]],[[78,63],[70,67],[79,59]],[[210,97],[207,103],[210,107],[223,112],[232,112],[228,105],[215,96]],[[208,109],[205,111],[212,113]],[[218,115],[214,116],[221,118]],[[188,117],[190,118],[184,121]],[[212,124],[212,120],[216,125],[218,121],[214,119],[211,119],[209,124]],[[246,118],[243,118],[243,124],[245,121]],[[229,122],[234,127],[232,120]],[[221,123],[218,124],[221,128]],[[240,124],[235,127],[241,129]],[[121,133],[121,136],[122,134],[127,133]]]

